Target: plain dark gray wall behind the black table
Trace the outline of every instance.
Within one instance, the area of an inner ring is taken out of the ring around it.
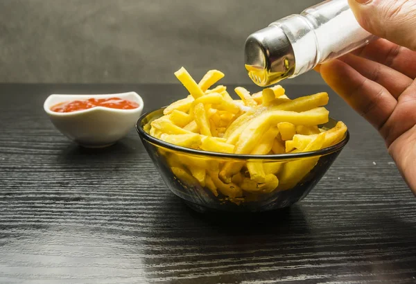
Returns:
[[[319,0],[1,0],[0,82],[250,82],[250,33]],[[284,84],[322,83],[311,71]]]

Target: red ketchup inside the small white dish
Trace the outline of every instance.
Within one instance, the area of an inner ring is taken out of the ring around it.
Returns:
[[[109,107],[111,109],[136,109],[138,103],[121,98],[89,98],[88,100],[72,100],[70,102],[58,103],[51,107],[52,112],[76,112],[92,107]]]

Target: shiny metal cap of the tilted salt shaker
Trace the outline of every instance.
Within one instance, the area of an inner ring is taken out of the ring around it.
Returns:
[[[277,25],[252,33],[245,41],[245,69],[252,81],[266,87],[295,72],[293,47]]]

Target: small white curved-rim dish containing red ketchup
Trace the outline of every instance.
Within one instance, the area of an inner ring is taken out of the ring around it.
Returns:
[[[136,109],[92,107],[76,112],[53,112],[51,107],[71,100],[121,98],[139,104]],[[116,143],[135,126],[143,111],[143,99],[134,91],[121,94],[53,94],[46,98],[44,110],[55,127],[69,139],[87,148],[103,148]]]

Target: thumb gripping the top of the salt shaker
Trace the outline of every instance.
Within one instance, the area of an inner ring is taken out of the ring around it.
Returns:
[[[348,0],[369,33],[416,51],[416,0]]]

